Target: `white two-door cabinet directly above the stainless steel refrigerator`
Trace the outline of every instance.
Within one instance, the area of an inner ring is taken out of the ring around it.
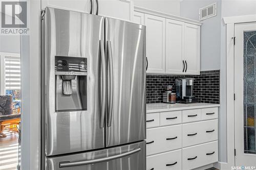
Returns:
[[[92,7],[92,13],[96,14],[98,10],[98,15],[101,16],[109,16],[123,20],[132,20],[133,17],[133,2],[131,0],[98,0],[98,6],[96,0],[41,0],[41,2],[42,9],[48,6],[90,13]]]

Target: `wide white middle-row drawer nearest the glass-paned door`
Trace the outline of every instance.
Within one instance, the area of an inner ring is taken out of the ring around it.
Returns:
[[[182,125],[182,147],[218,139],[218,119]]]

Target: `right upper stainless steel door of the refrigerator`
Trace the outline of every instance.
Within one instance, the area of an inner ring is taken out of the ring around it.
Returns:
[[[105,18],[106,147],[145,139],[145,26]]]

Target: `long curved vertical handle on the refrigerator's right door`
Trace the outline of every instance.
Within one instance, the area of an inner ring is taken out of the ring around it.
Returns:
[[[113,114],[113,56],[112,56],[112,46],[111,41],[106,41],[106,47],[108,48],[108,57],[110,64],[110,97],[109,97],[109,115],[108,115],[108,127],[111,127],[112,114]]]

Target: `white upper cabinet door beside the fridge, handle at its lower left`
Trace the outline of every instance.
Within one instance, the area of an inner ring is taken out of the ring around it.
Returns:
[[[145,14],[147,73],[165,72],[165,18]]]

